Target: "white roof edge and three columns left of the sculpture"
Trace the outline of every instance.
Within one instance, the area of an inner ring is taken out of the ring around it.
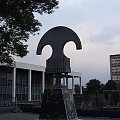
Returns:
[[[28,95],[28,101],[32,101],[32,71],[39,72],[40,78],[42,78],[40,81],[42,82],[41,86],[39,86],[41,89],[41,93],[44,92],[45,88],[45,67],[44,66],[38,66],[33,64],[27,64],[27,63],[21,63],[21,62],[14,62],[13,66],[13,82],[12,82],[12,101],[15,102],[16,99],[16,69],[24,69],[27,70],[27,76],[28,76],[28,87],[27,87],[27,95]],[[40,91],[38,91],[40,92]]]

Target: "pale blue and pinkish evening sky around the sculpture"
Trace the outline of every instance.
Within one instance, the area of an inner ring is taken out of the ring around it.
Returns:
[[[35,14],[42,23],[40,34],[30,36],[29,54],[15,60],[45,66],[52,49],[45,46],[42,55],[36,55],[41,37],[55,26],[66,26],[77,33],[82,43],[81,50],[76,50],[73,42],[64,47],[72,71],[82,74],[83,85],[94,78],[106,83],[110,80],[109,57],[120,54],[120,0],[59,0],[58,7],[50,15]]]

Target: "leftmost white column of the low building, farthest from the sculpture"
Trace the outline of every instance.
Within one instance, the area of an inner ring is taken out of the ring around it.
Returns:
[[[13,80],[12,80],[12,102],[15,102],[16,97],[16,66],[13,68]]]

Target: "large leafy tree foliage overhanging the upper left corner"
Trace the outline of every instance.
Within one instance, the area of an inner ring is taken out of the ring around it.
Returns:
[[[11,64],[13,55],[24,57],[25,42],[40,30],[34,13],[52,13],[57,0],[0,0],[0,63]]]

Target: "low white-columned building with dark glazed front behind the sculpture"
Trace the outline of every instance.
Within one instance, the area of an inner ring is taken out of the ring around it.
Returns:
[[[62,78],[63,85],[68,86],[72,79],[74,92],[74,78],[80,80],[81,74],[71,72],[67,78]],[[35,102],[41,101],[41,95],[45,88],[53,86],[54,78],[45,73],[44,66],[15,62],[13,67],[0,65],[0,102]],[[81,89],[80,89],[81,91]]]

